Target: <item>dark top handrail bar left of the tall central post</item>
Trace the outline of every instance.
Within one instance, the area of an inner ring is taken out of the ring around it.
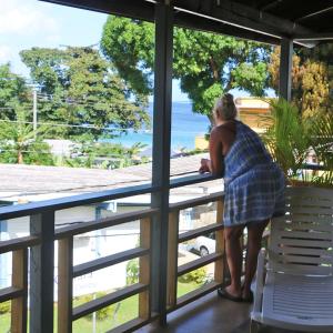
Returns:
[[[134,196],[139,194],[154,193],[158,192],[160,188],[152,186],[149,183],[149,184],[142,184],[137,186],[114,189],[114,190],[103,191],[103,192],[92,192],[92,193],[78,194],[72,196],[58,198],[52,200],[43,200],[43,201],[31,202],[27,204],[16,204],[16,205],[1,208],[0,220],[21,218],[26,215],[34,215],[48,211],[59,211],[59,210],[64,210],[78,205],[122,199],[122,198]]]

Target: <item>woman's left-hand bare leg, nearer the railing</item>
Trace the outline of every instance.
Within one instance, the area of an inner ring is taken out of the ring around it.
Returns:
[[[226,286],[226,292],[233,296],[241,296],[241,274],[242,274],[242,249],[240,239],[245,225],[225,226],[225,254],[230,271],[231,283]]]

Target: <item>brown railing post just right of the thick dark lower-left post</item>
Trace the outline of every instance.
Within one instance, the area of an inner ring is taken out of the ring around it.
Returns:
[[[58,241],[58,332],[72,332],[73,238]]]

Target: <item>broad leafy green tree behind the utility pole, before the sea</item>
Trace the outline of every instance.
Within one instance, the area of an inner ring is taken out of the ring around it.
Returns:
[[[89,133],[95,140],[112,133],[105,129],[111,125],[139,129],[149,122],[142,100],[129,101],[130,87],[98,50],[32,48],[20,54],[40,85],[39,119],[68,125],[58,128],[60,137]]]

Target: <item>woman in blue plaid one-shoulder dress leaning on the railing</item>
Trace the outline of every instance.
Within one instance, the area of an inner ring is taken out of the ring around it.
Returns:
[[[211,160],[200,172],[224,173],[224,238],[231,284],[219,295],[235,302],[252,302],[251,282],[256,270],[261,240],[270,219],[284,213],[284,176],[259,135],[235,120],[233,97],[226,93],[213,109],[215,127],[210,137]],[[241,285],[240,239],[248,228],[245,278]]]

